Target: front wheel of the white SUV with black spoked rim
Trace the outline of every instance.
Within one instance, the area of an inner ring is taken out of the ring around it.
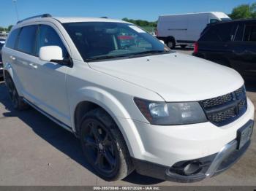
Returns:
[[[103,109],[94,109],[83,117],[80,142],[86,160],[102,179],[124,179],[134,170],[120,130]]]

